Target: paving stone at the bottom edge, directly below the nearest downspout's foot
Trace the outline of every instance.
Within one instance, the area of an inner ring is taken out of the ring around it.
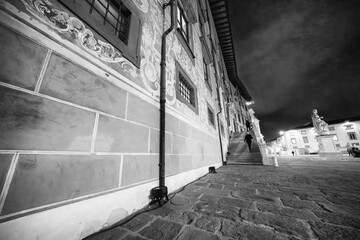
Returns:
[[[156,219],[150,226],[144,228],[139,233],[147,238],[156,240],[174,239],[182,228],[181,224]]]

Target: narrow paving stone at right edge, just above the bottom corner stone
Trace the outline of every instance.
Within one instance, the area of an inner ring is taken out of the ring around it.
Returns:
[[[360,228],[360,217],[341,213],[327,213],[314,211],[315,215],[328,223]]]

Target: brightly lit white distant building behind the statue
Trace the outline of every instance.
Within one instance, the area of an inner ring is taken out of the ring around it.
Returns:
[[[346,145],[360,147],[360,116],[326,121],[330,134],[334,136],[335,147],[346,153]],[[315,154],[319,151],[316,133],[312,123],[284,131],[283,136],[270,143],[272,152],[290,155]]]

